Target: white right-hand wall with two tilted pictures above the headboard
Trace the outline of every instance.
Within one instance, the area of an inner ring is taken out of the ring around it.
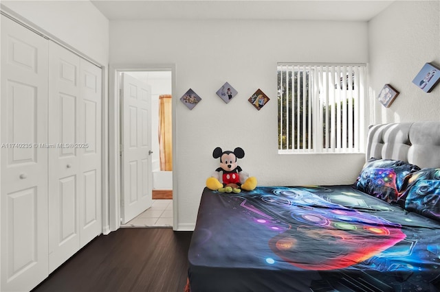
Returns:
[[[412,80],[421,67],[440,66],[440,1],[395,1],[369,22],[369,85],[375,123],[440,120],[440,85],[424,93]],[[384,84],[399,95],[377,101]]]

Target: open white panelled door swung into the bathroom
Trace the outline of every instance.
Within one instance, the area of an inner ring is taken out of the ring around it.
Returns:
[[[121,218],[127,223],[151,207],[151,90],[122,73]]]

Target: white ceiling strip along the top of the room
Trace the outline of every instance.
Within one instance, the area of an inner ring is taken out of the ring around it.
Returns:
[[[393,1],[358,0],[91,0],[114,20],[369,21]]]

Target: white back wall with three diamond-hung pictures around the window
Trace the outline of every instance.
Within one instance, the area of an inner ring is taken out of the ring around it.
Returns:
[[[367,23],[313,21],[111,21],[111,64],[177,67],[178,230],[194,227],[206,178],[219,166],[212,150],[243,147],[239,165],[260,185],[350,184],[362,154],[277,153],[277,62],[367,62]],[[238,95],[225,104],[215,92],[229,82]],[[188,88],[202,98],[188,110]],[[258,111],[248,98],[261,88],[270,101]]]

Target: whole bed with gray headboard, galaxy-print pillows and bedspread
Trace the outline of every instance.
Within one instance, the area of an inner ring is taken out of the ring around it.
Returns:
[[[440,122],[369,128],[350,185],[203,190],[187,290],[439,291]]]

